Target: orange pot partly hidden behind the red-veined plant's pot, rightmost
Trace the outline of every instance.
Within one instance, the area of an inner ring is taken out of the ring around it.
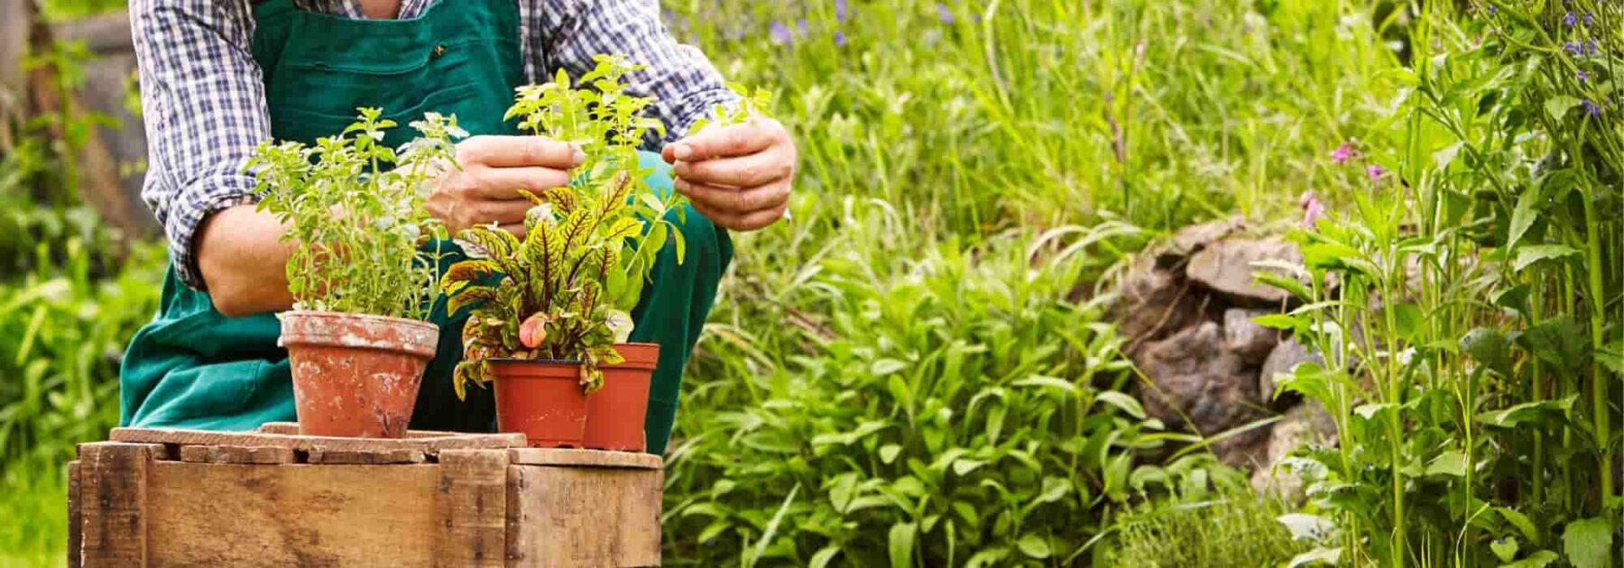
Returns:
[[[659,362],[659,346],[622,342],[614,349],[625,362],[604,365],[604,388],[586,398],[586,448],[645,451],[648,381]]]

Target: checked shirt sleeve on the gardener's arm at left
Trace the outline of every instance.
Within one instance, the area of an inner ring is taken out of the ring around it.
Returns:
[[[247,0],[133,0],[130,26],[149,148],[141,200],[164,227],[180,279],[205,289],[198,227],[255,203],[242,167],[271,133],[248,50],[253,18]]]

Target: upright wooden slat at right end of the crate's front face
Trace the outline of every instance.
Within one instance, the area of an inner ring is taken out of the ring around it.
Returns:
[[[440,453],[435,566],[507,565],[507,458],[502,450]]]

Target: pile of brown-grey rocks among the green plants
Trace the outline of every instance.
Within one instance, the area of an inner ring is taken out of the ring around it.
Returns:
[[[1127,355],[1148,378],[1140,394],[1153,417],[1215,437],[1281,414],[1212,448],[1226,464],[1252,467],[1259,490],[1294,493],[1299,482],[1273,464],[1302,441],[1335,443],[1335,424],[1317,404],[1275,398],[1275,373],[1319,357],[1252,321],[1294,300],[1255,282],[1254,263],[1301,265],[1302,255],[1278,237],[1244,234],[1239,217],[1192,226],[1140,255],[1112,315]]]

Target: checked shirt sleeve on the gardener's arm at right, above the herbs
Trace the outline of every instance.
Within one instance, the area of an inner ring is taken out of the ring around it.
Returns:
[[[625,83],[627,93],[654,97],[650,112],[667,128],[666,136],[650,140],[650,146],[682,138],[695,120],[710,115],[718,104],[731,105],[737,101],[703,52],[671,36],[659,18],[658,0],[520,3],[541,15],[542,29],[533,36],[539,45],[529,49],[541,55],[541,67],[531,68],[531,80],[547,81],[549,71],[557,68],[581,76],[596,65],[593,55],[625,55],[633,63],[645,65],[627,75]]]

